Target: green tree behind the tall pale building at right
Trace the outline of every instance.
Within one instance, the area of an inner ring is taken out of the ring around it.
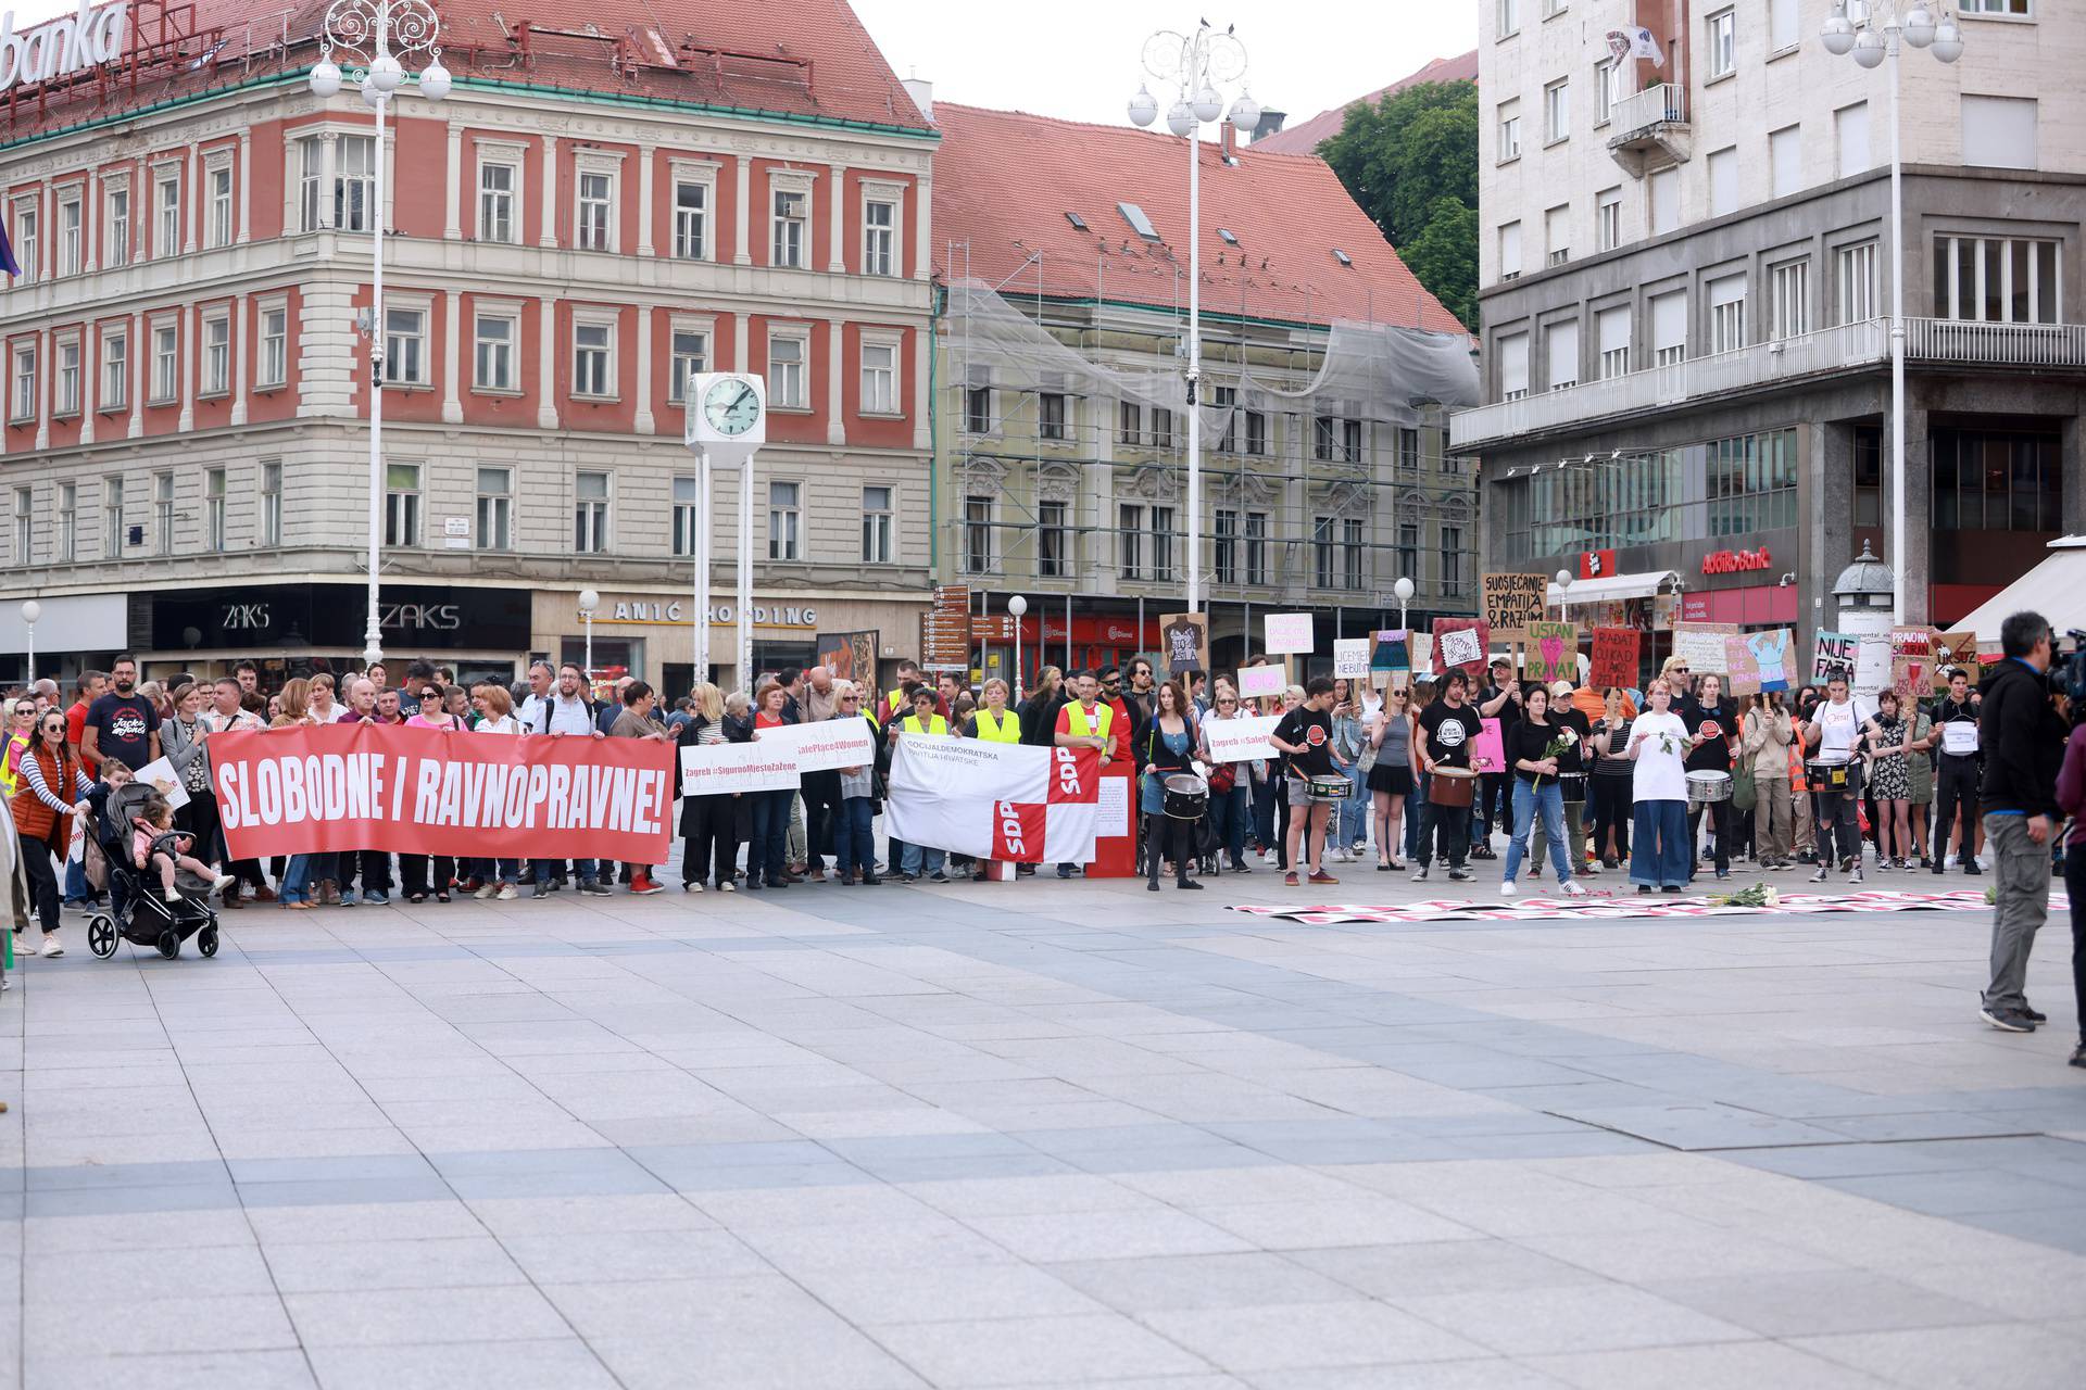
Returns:
[[[1427,81],[1348,108],[1318,146],[1406,267],[1477,327],[1477,83]]]

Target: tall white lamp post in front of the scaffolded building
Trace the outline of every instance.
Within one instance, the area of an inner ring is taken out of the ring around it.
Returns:
[[[1224,117],[1218,83],[1245,75],[1245,44],[1202,21],[1187,35],[1162,29],[1145,40],[1145,71],[1160,88],[1174,83],[1166,129],[1187,135],[1187,611],[1202,613],[1202,127]],[[1131,98],[1131,121],[1151,125],[1160,104],[1147,88]],[[1260,104],[1239,88],[1229,121],[1252,133],[1260,125]]]

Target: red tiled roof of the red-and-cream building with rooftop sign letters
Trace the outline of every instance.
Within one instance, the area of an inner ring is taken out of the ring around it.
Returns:
[[[17,85],[0,102],[0,140],[300,69],[317,60],[325,8],[290,0],[286,17],[254,19],[252,0],[194,0],[194,21],[177,33],[159,4],[140,0],[129,40],[140,54],[136,81],[108,65],[48,92]],[[442,60],[459,81],[930,129],[847,0],[588,0],[584,8],[578,19],[555,0],[440,0]]]

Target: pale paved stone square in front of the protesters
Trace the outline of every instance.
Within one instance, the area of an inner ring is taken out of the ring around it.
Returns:
[[[1295,892],[69,917],[0,1388],[2086,1384],[2063,921],[2021,1038],[1982,915],[1227,911]]]

